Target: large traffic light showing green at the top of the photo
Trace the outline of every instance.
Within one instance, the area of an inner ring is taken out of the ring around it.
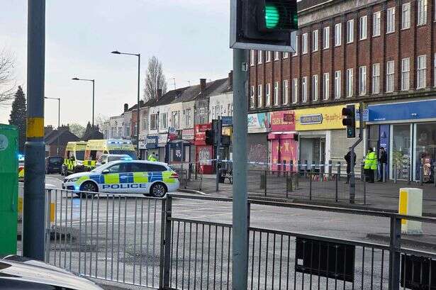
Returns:
[[[231,0],[230,48],[293,52],[296,0]]]

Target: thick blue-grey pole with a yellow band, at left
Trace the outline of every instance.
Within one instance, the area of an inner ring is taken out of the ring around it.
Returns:
[[[26,175],[23,256],[44,260],[45,245],[45,0],[28,0]]]

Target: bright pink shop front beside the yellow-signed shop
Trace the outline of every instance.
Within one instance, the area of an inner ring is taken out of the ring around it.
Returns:
[[[269,140],[269,161],[272,170],[290,170],[294,164],[296,171],[298,160],[298,134],[295,131],[294,111],[276,111],[271,113],[271,133]]]

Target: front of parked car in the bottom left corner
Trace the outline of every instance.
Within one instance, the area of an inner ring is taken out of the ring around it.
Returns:
[[[16,255],[0,259],[0,289],[102,290],[93,281],[64,269]]]

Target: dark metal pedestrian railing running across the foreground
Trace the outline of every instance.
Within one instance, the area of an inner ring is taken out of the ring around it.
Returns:
[[[65,190],[47,190],[47,194],[56,201],[54,223],[47,222],[46,261],[50,264],[86,277],[156,289],[232,288],[232,225],[213,221],[213,215],[193,218],[184,214],[185,205],[194,204],[196,210],[204,203],[217,205],[227,217],[232,199],[181,194],[167,194],[166,199],[77,195]],[[284,215],[304,210],[326,212],[333,218],[369,216],[389,226],[389,243],[383,244],[343,238],[340,233],[326,237],[250,225],[248,289],[399,289],[401,279],[407,286],[410,279],[420,278],[401,277],[401,273],[414,273],[408,267],[418,267],[408,260],[423,257],[430,265],[436,262],[435,252],[401,245],[401,219],[436,223],[436,218],[257,200],[249,200],[248,207],[249,225],[262,218],[258,213],[270,208]],[[324,227],[319,222],[313,226]],[[420,269],[423,277],[428,269]]]

